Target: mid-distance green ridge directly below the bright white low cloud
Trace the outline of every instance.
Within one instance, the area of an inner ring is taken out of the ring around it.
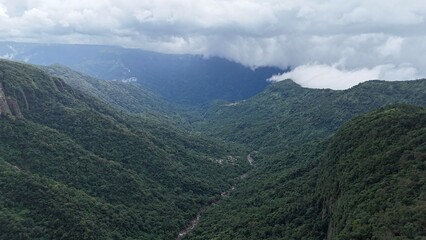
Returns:
[[[426,80],[369,81],[344,91],[274,83],[253,98],[206,105],[198,128],[277,153],[329,137],[351,118],[388,104],[426,106]]]

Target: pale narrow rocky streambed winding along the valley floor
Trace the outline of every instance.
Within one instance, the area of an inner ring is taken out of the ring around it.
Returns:
[[[253,159],[253,157],[251,156],[253,153],[255,153],[256,151],[253,151],[253,152],[251,152],[251,153],[249,153],[248,155],[247,155],[247,162],[250,164],[250,166],[251,167],[254,167],[254,159]],[[238,178],[239,179],[244,179],[244,178],[246,178],[247,177],[247,175],[248,175],[248,172],[249,171],[247,171],[247,172],[245,172],[244,174],[242,174],[242,175],[240,175]],[[233,184],[232,184],[232,186],[231,186],[231,188],[229,189],[229,190],[227,190],[227,191],[223,191],[221,194],[220,194],[220,196],[222,197],[222,198],[224,198],[224,197],[228,197],[230,194],[231,194],[231,192],[233,192],[235,189],[237,189],[237,181],[235,181]],[[181,239],[183,239],[184,237],[186,237],[192,230],[194,230],[194,228],[198,225],[198,223],[200,222],[200,220],[201,220],[201,215],[206,211],[206,209],[207,208],[209,208],[209,207],[211,207],[211,206],[214,206],[214,205],[216,205],[217,203],[219,203],[219,201],[220,201],[221,199],[219,199],[219,200],[217,200],[217,201],[214,201],[213,203],[210,203],[210,205],[208,205],[208,206],[206,206],[206,207],[203,207],[203,208],[201,208],[198,212],[197,212],[197,216],[194,218],[194,219],[192,219],[192,221],[191,221],[191,223],[185,228],[185,229],[183,229],[182,231],[180,231],[179,232],[179,235],[178,235],[178,237],[176,238],[176,240],[181,240]]]

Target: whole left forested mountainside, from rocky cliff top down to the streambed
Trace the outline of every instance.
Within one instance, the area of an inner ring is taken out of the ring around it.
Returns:
[[[175,238],[245,155],[0,60],[0,239]]]

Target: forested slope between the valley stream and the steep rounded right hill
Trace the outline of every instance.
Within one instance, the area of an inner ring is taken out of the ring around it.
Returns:
[[[247,180],[208,209],[188,239],[324,239],[327,221],[315,193],[323,143],[292,149],[280,158],[256,155]]]

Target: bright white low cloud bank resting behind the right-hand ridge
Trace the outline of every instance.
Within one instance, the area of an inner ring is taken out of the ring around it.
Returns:
[[[378,65],[373,68],[355,70],[342,69],[336,65],[307,64],[296,67],[293,71],[271,77],[270,81],[292,79],[307,88],[330,88],[343,90],[368,80],[414,80],[417,70],[409,65]]]

